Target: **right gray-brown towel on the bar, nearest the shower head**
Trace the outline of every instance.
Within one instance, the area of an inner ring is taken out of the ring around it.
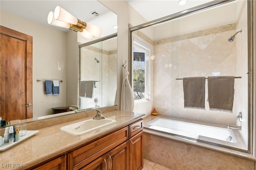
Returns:
[[[208,77],[208,101],[210,110],[232,113],[234,79],[234,76]]]

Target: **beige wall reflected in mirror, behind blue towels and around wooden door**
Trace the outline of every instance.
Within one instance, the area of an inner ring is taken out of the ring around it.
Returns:
[[[33,37],[33,117],[66,106],[66,33],[1,11],[1,25]],[[60,95],[45,95],[37,79],[58,79]]]

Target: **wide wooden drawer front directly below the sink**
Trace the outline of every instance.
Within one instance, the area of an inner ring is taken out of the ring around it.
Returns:
[[[68,154],[68,169],[80,169],[126,140],[128,140],[128,127],[79,148]]]

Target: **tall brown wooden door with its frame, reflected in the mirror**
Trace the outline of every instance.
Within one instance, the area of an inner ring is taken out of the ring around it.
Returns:
[[[0,42],[0,115],[32,118],[32,37],[0,26]]]

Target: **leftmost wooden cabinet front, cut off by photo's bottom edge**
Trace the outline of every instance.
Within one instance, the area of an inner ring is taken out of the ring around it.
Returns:
[[[66,170],[66,155],[56,158],[34,170]]]

